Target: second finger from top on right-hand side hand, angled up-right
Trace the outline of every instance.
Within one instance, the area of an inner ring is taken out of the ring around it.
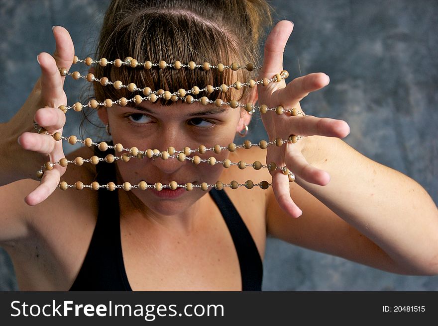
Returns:
[[[293,106],[301,101],[310,92],[327,86],[330,82],[329,76],[324,73],[312,73],[306,76],[295,78],[286,87],[275,91],[279,103],[286,106]]]

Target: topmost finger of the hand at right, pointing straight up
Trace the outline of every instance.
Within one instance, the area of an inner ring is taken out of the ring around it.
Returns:
[[[283,53],[294,24],[288,20],[279,21],[266,38],[262,75],[277,74],[283,70]]]

